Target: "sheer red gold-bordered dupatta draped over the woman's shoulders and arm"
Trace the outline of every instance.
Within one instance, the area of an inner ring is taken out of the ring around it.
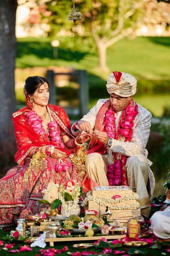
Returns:
[[[65,113],[65,111],[59,106],[49,104],[48,107],[51,111],[52,117],[58,123],[61,131],[73,137],[73,135],[70,132],[71,125],[70,125],[70,121],[67,113]],[[48,138],[47,134],[43,134],[43,135],[37,134],[31,128],[31,126],[28,124],[28,120],[26,117],[26,114],[30,111],[31,109],[26,107],[13,113],[12,115],[12,119],[14,122],[14,131],[15,131],[17,147],[18,147],[18,151],[15,154],[15,161],[19,165],[23,165],[28,153],[32,149],[36,147],[41,147],[43,145],[54,145],[56,146],[56,148],[59,148],[59,150],[65,151],[68,155],[70,155],[71,152],[69,152],[64,148],[60,148],[57,143],[55,143],[54,141],[51,141]]]

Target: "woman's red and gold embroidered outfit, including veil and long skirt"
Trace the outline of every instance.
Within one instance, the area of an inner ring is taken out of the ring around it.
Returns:
[[[50,124],[51,131],[48,134],[41,126],[40,117],[37,118],[34,111],[29,108],[23,108],[13,114],[18,146],[15,160],[19,165],[10,169],[0,180],[1,227],[14,225],[18,218],[40,212],[42,206],[37,202],[42,197],[41,191],[47,187],[50,179],[59,184],[67,179],[77,180],[81,183],[77,169],[71,164],[69,158],[71,152],[63,148],[61,143],[63,135],[72,136],[68,116],[58,106],[48,105],[48,108],[54,119]],[[35,120],[33,120],[34,117],[36,117]],[[37,123],[31,122],[32,120]],[[28,167],[31,158],[27,157],[28,153],[43,145],[54,145],[59,150],[67,152],[68,157],[59,163],[58,159],[47,156],[41,161],[41,168],[37,164],[30,170]],[[26,173],[28,179],[25,178]]]

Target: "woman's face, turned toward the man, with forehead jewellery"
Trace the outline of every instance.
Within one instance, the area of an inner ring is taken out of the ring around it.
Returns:
[[[49,87],[46,82],[42,84],[33,94],[33,102],[35,105],[46,106],[49,99]]]

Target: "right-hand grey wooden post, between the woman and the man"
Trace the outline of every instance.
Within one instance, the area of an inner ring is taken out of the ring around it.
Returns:
[[[88,77],[86,70],[79,70],[79,109],[81,118],[88,113]]]

